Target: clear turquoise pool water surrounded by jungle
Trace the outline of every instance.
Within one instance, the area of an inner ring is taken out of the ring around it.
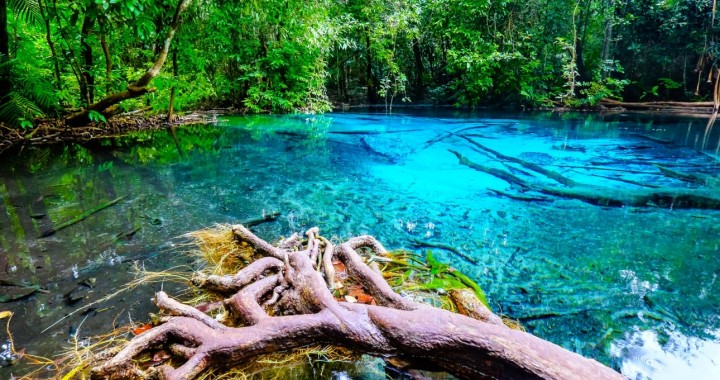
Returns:
[[[418,239],[454,246],[476,263],[434,253],[473,277],[496,312],[632,378],[720,376],[719,211],[500,197],[490,189],[507,190],[506,182],[459,165],[448,149],[500,162],[457,138],[426,144],[478,127],[470,131],[478,142],[584,183],[637,188],[611,179],[620,176],[686,187],[653,164],[717,176],[720,133],[705,119],[417,111],[220,120],[179,130],[177,145],[167,133],[141,133],[1,158],[0,281],[48,290],[0,303],[15,313],[18,349],[52,356],[71,333],[147,320],[151,294],[177,288],[137,288],[84,311],[132,279],[134,263],[189,264],[183,233],[281,211],[260,235],[319,226],[340,238],[372,234],[392,248]],[[88,278],[95,288],[81,286],[86,298],[69,305],[65,296]],[[13,370],[0,369],[0,378]]]

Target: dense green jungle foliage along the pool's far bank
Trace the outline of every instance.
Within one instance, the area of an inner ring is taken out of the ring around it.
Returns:
[[[0,0],[0,120],[30,127],[37,117],[83,110],[92,121],[170,107],[322,112],[331,100],[537,107],[713,99],[715,5]]]

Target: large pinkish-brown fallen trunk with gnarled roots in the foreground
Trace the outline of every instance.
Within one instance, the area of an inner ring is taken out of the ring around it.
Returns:
[[[454,297],[464,300],[462,309],[471,309],[467,314],[477,319],[400,296],[356,251],[387,254],[370,236],[333,245],[312,228],[304,245],[294,235],[274,246],[241,225],[233,232],[240,244],[264,257],[234,276],[201,275],[193,283],[226,294],[223,304],[237,327],[159,292],[156,305],[172,317],[98,363],[94,378],[191,379],[208,368],[227,368],[261,354],[311,344],[409,357],[464,379],[623,378],[594,360],[504,326],[477,299],[468,300],[469,294]],[[326,264],[332,259],[345,265],[377,306],[335,300],[328,278],[323,278],[333,276],[332,266]],[[163,364],[149,373],[133,367],[134,358],[161,346],[184,364]]]

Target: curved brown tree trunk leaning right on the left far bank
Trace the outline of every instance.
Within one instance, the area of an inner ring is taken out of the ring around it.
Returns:
[[[180,27],[181,22],[181,16],[187,10],[187,8],[192,3],[192,0],[180,0],[180,2],[177,5],[177,8],[175,9],[175,15],[173,16],[172,21],[170,22],[170,27],[167,31],[167,34],[165,35],[165,41],[163,43],[162,49],[160,50],[160,53],[158,54],[157,59],[155,60],[155,63],[153,66],[148,69],[148,71],[145,72],[145,74],[140,77],[135,83],[131,83],[127,86],[127,88],[124,91],[116,92],[113,94],[110,94],[106,96],[105,98],[101,99],[97,103],[89,105],[86,109],[74,113],[67,117],[65,120],[67,124],[69,125],[82,125],[87,124],[89,122],[88,115],[90,112],[95,111],[98,112],[104,116],[109,116],[113,114],[115,111],[115,106],[127,99],[137,98],[139,96],[145,95],[149,92],[154,92],[155,89],[149,87],[150,82],[160,74],[160,69],[162,69],[163,65],[165,64],[165,61],[167,60],[168,52],[170,51],[170,44],[172,43],[173,38],[175,37],[175,33],[177,32],[178,28]]]

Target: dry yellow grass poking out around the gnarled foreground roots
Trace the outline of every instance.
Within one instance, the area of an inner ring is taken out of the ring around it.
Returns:
[[[229,224],[217,224],[213,227],[195,231],[186,235],[190,239],[189,253],[195,256],[200,262],[201,268],[196,269],[206,275],[232,275],[244,268],[254,260],[255,252],[247,244],[239,243]],[[457,307],[447,296],[443,289],[423,288],[438,275],[437,262],[428,264],[423,257],[409,251],[399,250],[390,252],[388,255],[378,256],[366,254],[365,261],[375,266],[383,273],[385,279],[395,291],[413,298],[419,302],[432,304],[453,312]],[[184,270],[181,270],[184,269]],[[166,271],[151,272],[142,267],[136,267],[136,279],[127,284],[123,289],[103,298],[106,301],[122,292],[131,290],[137,286],[158,282],[180,282],[190,283],[192,271],[184,268],[171,268]],[[349,286],[361,287],[361,284],[346,284]],[[176,295],[190,305],[222,300],[223,297],[211,292],[195,289],[191,286],[185,294]],[[83,308],[87,308],[87,305]],[[215,310],[212,314],[223,313],[222,308]],[[522,329],[522,326],[508,318],[503,318],[506,325],[511,328]],[[47,367],[51,364],[62,374],[58,378],[63,380],[89,378],[89,369],[98,358],[98,353],[113,350],[121,347],[128,339],[132,338],[131,331],[134,326],[124,326],[112,332],[81,341],[74,341],[68,350],[57,359],[50,360],[40,358],[38,364]],[[202,380],[207,379],[314,379],[318,376],[329,378],[333,365],[339,367],[342,363],[355,363],[359,356],[338,347],[306,347],[291,352],[273,353],[263,355],[242,363],[234,368],[215,369],[202,375]],[[152,353],[136,361],[136,365],[145,368],[152,364]],[[345,369],[350,366],[344,367]],[[34,372],[37,374],[44,368]],[[318,371],[321,373],[318,373]],[[33,374],[28,377],[33,378]]]

